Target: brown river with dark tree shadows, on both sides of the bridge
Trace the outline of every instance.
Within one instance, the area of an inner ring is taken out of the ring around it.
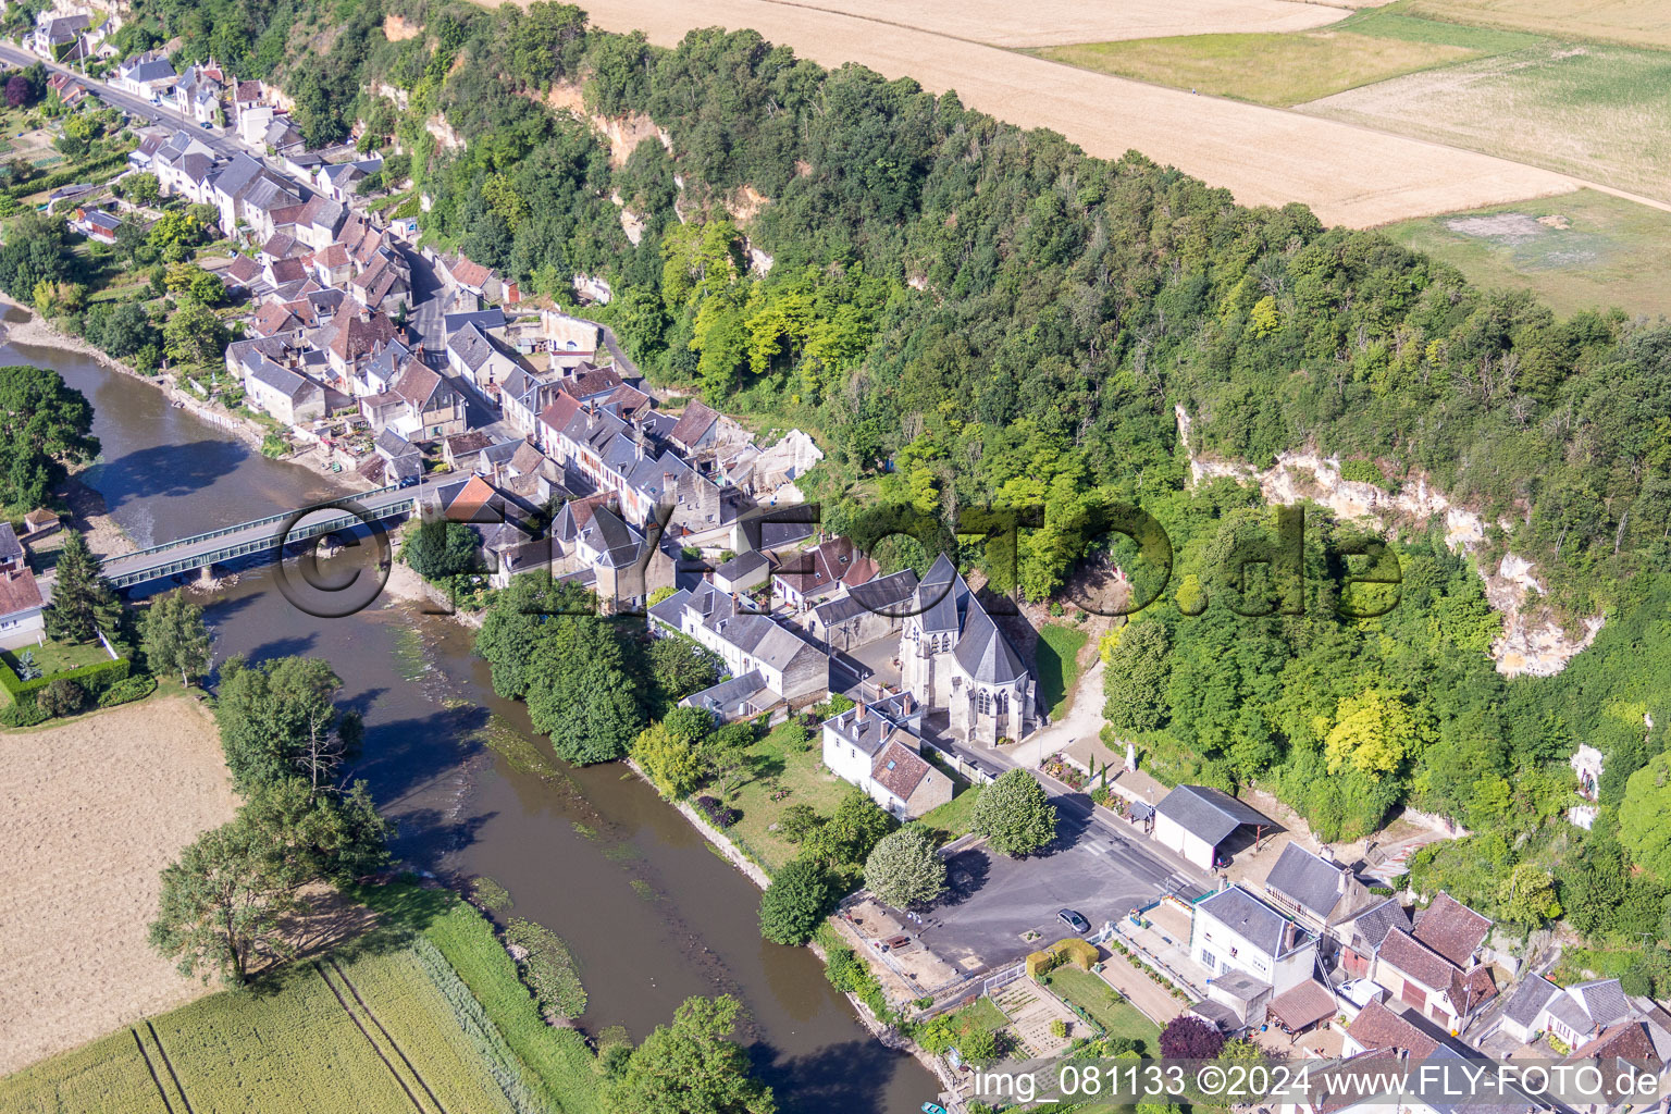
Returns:
[[[57,367],[92,401],[102,453],[84,479],[139,544],[333,494],[316,473],[252,453],[90,359],[7,344],[0,361]],[[590,994],[588,1032],[625,1025],[642,1039],[685,997],[724,990],[744,1002],[750,1057],[785,1112],[894,1114],[939,1091],[916,1061],[869,1039],[817,957],[760,939],[759,890],[648,785],[618,763],[556,762],[521,705],[493,695],[460,623],[388,596],[312,618],[271,568],[222,588],[209,621],[217,660],[331,661],[366,717],[358,777],[399,823],[396,855],[444,879],[493,877],[515,899],[511,915],[560,934]],[[536,748],[551,773],[506,760],[516,747]]]

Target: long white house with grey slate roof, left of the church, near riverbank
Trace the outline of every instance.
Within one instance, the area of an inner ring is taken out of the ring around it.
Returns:
[[[575,503],[565,504],[563,511],[571,506]],[[767,688],[790,705],[807,703],[829,690],[829,655],[714,585],[675,591],[650,608],[650,625],[652,631],[668,630],[697,640],[719,655],[732,676],[759,670]]]

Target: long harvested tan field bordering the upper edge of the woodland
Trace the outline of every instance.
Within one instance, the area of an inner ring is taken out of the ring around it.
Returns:
[[[1243,204],[1302,200],[1328,224],[1374,227],[1561,194],[1577,185],[1566,175],[1504,159],[1277,109],[1193,97],[951,37],[964,30],[991,38],[1011,33],[1019,17],[999,15],[994,0],[962,8],[964,15],[956,20],[946,17],[947,33],[901,25],[924,18],[924,12],[932,15],[947,0],[896,8],[886,17],[894,20],[891,23],[864,18],[879,7],[877,0],[815,2],[861,15],[784,0],[703,0],[700,5],[598,0],[587,10],[598,27],[638,28],[660,45],[677,43],[693,27],[752,27],[824,65],[861,62],[887,77],[914,77],[936,92],[956,89],[974,109],[1023,127],[1054,129],[1095,155],[1141,150],[1211,185],[1228,187]],[[1076,8],[1063,0],[1023,10],[1028,13],[1024,22],[1043,27],[1039,33],[1054,42],[1071,42],[1079,33],[1074,28],[1083,28],[1088,18],[1066,15]],[[984,12],[991,12],[991,18]],[[1033,20],[1038,12],[1043,17]],[[1053,23],[1053,17],[1061,22]],[[989,32],[979,32],[981,27]]]

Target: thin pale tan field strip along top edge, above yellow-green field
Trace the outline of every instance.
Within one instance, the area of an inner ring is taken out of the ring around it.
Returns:
[[[797,0],[857,18],[993,43],[1044,47],[1063,42],[1205,35],[1211,32],[1292,32],[1323,27],[1347,15],[1350,5],[1292,0]]]

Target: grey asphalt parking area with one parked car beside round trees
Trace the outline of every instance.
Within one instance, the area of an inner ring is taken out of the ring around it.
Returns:
[[[922,942],[962,970],[1003,967],[1071,934],[1058,909],[1101,927],[1165,892],[1195,892],[1193,875],[1091,823],[1088,807],[1059,813],[1051,853],[1014,860],[984,843],[954,853],[946,863],[952,892],[922,917]],[[1024,940],[1028,930],[1039,939]]]

